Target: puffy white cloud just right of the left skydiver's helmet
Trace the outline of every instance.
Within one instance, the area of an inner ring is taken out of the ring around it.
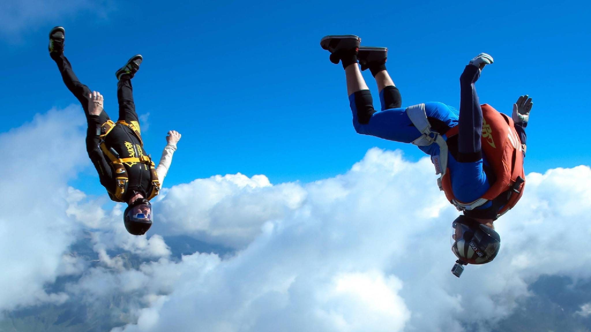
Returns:
[[[155,207],[154,232],[192,235],[243,248],[264,222],[280,219],[305,198],[297,184],[271,185],[264,175],[216,175],[176,185]]]

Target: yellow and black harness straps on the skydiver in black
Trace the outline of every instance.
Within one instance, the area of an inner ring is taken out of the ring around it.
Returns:
[[[138,162],[139,164],[145,164],[150,166],[150,177],[151,177],[151,181],[152,181],[152,188],[150,190],[150,193],[148,193],[148,197],[146,197],[147,200],[151,200],[152,198],[154,198],[155,196],[158,195],[158,191],[160,191],[160,181],[158,181],[158,175],[156,174],[156,168],[154,167],[154,162],[152,162],[150,156],[148,155],[141,155],[139,158],[136,157],[129,157],[129,158],[118,158],[115,156],[115,154],[113,154],[113,152],[109,151],[109,148],[107,148],[106,144],[105,144],[105,138],[106,136],[109,134],[109,132],[111,132],[113,130],[113,128],[115,128],[115,125],[117,125],[118,123],[121,123],[124,126],[127,126],[128,128],[130,128],[135,136],[137,136],[137,138],[139,139],[139,144],[141,144],[141,146],[144,146],[144,142],[142,142],[142,138],[141,135],[138,132],[138,129],[132,125],[131,123],[127,123],[125,121],[117,121],[117,122],[113,122],[111,120],[108,120],[107,122],[103,123],[100,126],[100,150],[103,151],[103,154],[105,154],[105,157],[108,158],[109,160],[109,164],[111,164],[112,170],[115,175],[115,182],[116,182],[116,186],[115,186],[115,193],[111,193],[111,191],[107,190],[109,193],[109,197],[111,197],[112,200],[114,201],[119,201],[119,202],[124,202],[124,197],[125,197],[125,193],[127,191],[127,185],[128,185],[128,181],[129,181],[129,177],[127,175],[127,170],[125,169],[124,166],[124,162]]]

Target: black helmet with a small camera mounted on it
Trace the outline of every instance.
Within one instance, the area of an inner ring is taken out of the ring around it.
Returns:
[[[466,216],[457,217],[452,227],[452,252],[458,258],[452,269],[454,275],[462,274],[462,265],[484,264],[495,259],[501,248],[501,237],[491,227]]]

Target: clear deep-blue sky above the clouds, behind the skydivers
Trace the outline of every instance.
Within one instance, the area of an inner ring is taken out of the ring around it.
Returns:
[[[491,54],[495,64],[477,85],[481,102],[510,112],[519,95],[534,99],[526,171],[589,165],[591,154],[579,143],[586,129],[577,126],[589,120],[582,107],[591,88],[591,34],[583,21],[589,4],[484,4],[105,1],[85,7],[82,1],[77,10],[0,35],[0,131],[77,102],[47,54],[48,31],[63,25],[66,56],[80,80],[105,96],[112,117],[114,71],[133,54],[144,56],[133,84],[139,115],[149,113],[145,147],[159,156],[168,130],[183,135],[167,187],[236,172],[265,174],[272,183],[318,180],[348,170],[371,147],[423,157],[413,146],[353,130],[343,70],[319,41],[356,34],[362,45],[389,48],[387,65],[403,106],[457,107],[463,66],[480,52]],[[364,75],[377,103],[375,83]],[[72,184],[102,194],[88,164]]]

